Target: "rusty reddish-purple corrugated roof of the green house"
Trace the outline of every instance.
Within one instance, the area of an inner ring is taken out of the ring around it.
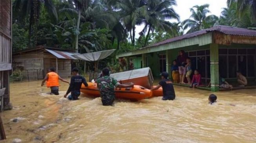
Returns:
[[[183,40],[183,39],[188,39],[188,38],[200,36],[200,35],[203,35],[203,34],[206,34],[206,33],[209,33],[209,32],[213,32],[213,31],[218,31],[218,32],[221,32],[223,34],[229,34],[229,35],[256,36],[256,30],[249,30],[249,29],[244,29],[244,28],[218,25],[218,26],[214,26],[214,27],[209,28],[209,29],[203,29],[203,30],[200,30],[200,31],[196,31],[196,32],[192,32],[192,33],[185,34],[185,35],[182,35],[182,36],[167,39],[167,40],[164,40],[164,41],[161,41],[161,42],[158,42],[158,43],[155,43],[153,45],[149,45],[149,46],[146,46],[146,47],[143,47],[143,48],[159,46],[159,45],[171,43],[171,42],[174,42],[174,41],[180,41],[180,40]],[[143,48],[140,48],[140,49],[143,49]],[[138,50],[140,50],[140,49],[138,49]]]

